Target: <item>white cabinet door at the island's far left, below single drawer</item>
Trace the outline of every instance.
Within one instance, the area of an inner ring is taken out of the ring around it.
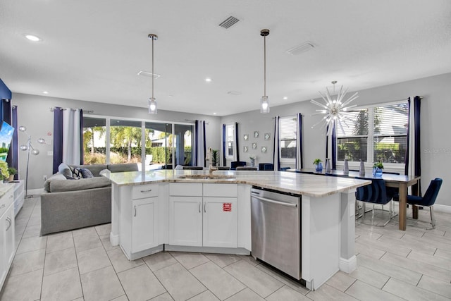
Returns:
[[[158,197],[133,200],[132,253],[158,244]]]

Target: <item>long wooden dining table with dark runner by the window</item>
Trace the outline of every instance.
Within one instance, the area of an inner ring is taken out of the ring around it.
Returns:
[[[410,186],[412,186],[412,194],[419,195],[419,180],[421,176],[406,176],[399,175],[395,173],[382,173],[382,176],[374,176],[373,173],[365,173],[363,176],[360,175],[359,171],[345,171],[342,170],[331,170],[326,173],[326,170],[316,171],[315,168],[302,168],[302,169],[287,169],[289,172],[296,173],[309,173],[319,176],[340,176],[340,177],[350,177],[350,178],[364,178],[366,180],[372,179],[383,179],[385,180],[386,187],[398,188],[399,197],[398,202],[400,205],[398,219],[399,219],[399,228],[402,231],[406,230],[407,224],[407,190]],[[418,219],[418,207],[414,206],[412,215],[414,219]]]

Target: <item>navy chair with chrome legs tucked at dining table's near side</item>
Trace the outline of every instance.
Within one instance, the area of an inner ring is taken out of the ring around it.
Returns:
[[[364,178],[362,178],[364,179]],[[364,204],[363,208],[363,214],[362,214],[362,222],[364,223],[365,220],[365,211],[366,211],[366,203],[373,204],[373,210],[371,214],[371,225],[374,226],[374,206],[376,204],[382,205],[382,212],[383,205],[388,204],[393,199],[393,194],[388,193],[385,189],[385,180],[383,179],[372,179],[372,183],[370,185],[362,186],[357,188],[357,191],[355,192],[355,198],[357,201],[361,201]],[[382,226],[385,226],[391,219],[393,219],[393,211],[391,206],[389,207],[390,210],[388,211],[388,220],[385,221],[385,223]],[[378,225],[376,225],[378,226]]]

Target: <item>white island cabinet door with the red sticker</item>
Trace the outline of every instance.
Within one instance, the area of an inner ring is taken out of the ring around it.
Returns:
[[[237,247],[237,198],[204,197],[204,247]]]

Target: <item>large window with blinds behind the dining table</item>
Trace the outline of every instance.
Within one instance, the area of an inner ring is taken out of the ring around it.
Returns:
[[[398,102],[345,112],[337,129],[337,159],[405,163],[408,104]]]

